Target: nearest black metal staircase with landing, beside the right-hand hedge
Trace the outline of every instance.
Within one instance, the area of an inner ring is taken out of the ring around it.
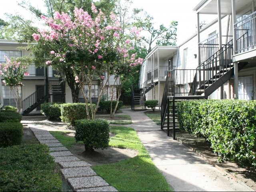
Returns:
[[[173,139],[176,139],[175,130],[178,128],[177,102],[207,99],[210,94],[232,78],[234,75],[232,53],[233,42],[231,40],[195,70],[174,69],[168,72],[161,104],[161,129],[167,130],[168,136],[170,136],[172,129]],[[238,71],[246,64],[239,64]]]

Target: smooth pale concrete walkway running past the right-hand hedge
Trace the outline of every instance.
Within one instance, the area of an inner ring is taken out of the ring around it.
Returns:
[[[154,164],[162,172],[174,191],[250,191],[210,165],[192,150],[168,137],[145,111],[122,109],[130,115],[140,140]]]

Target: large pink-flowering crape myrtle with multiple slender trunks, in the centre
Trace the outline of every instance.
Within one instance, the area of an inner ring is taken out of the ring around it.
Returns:
[[[116,16],[111,13],[107,18],[94,4],[92,12],[93,14],[89,15],[81,8],[75,8],[74,21],[63,12],[56,12],[54,19],[41,16],[49,29],[38,30],[38,34],[33,34],[34,40],[52,48],[46,65],[62,62],[74,70],[76,83],[79,84],[86,102],[88,118],[88,103],[90,102],[91,117],[95,118],[110,75],[116,75],[116,69],[122,66],[142,63],[142,59],[135,62],[129,56],[128,51],[133,48],[132,41],[122,33]],[[136,36],[138,31],[133,30],[131,33]],[[100,94],[94,109],[91,91],[92,80],[95,79],[100,80]],[[84,85],[88,85],[88,97],[84,93]]]

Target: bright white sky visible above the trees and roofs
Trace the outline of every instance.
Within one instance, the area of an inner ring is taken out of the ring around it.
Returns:
[[[153,16],[155,26],[164,24],[169,26],[172,20],[178,21],[177,28],[177,44],[183,42],[194,33],[196,33],[197,16],[193,9],[202,0],[133,0],[134,8],[143,8],[148,14]],[[1,0],[0,18],[6,20],[4,13],[19,13],[24,15],[26,19],[31,19],[32,16],[25,14],[23,8],[18,6],[17,2],[21,0]],[[43,0],[30,0],[31,4],[43,7]],[[205,20],[209,23],[217,16],[200,16],[200,20]]]

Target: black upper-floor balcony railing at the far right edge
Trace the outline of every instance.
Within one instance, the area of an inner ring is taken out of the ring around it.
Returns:
[[[256,12],[234,24],[235,54],[256,48]]]

